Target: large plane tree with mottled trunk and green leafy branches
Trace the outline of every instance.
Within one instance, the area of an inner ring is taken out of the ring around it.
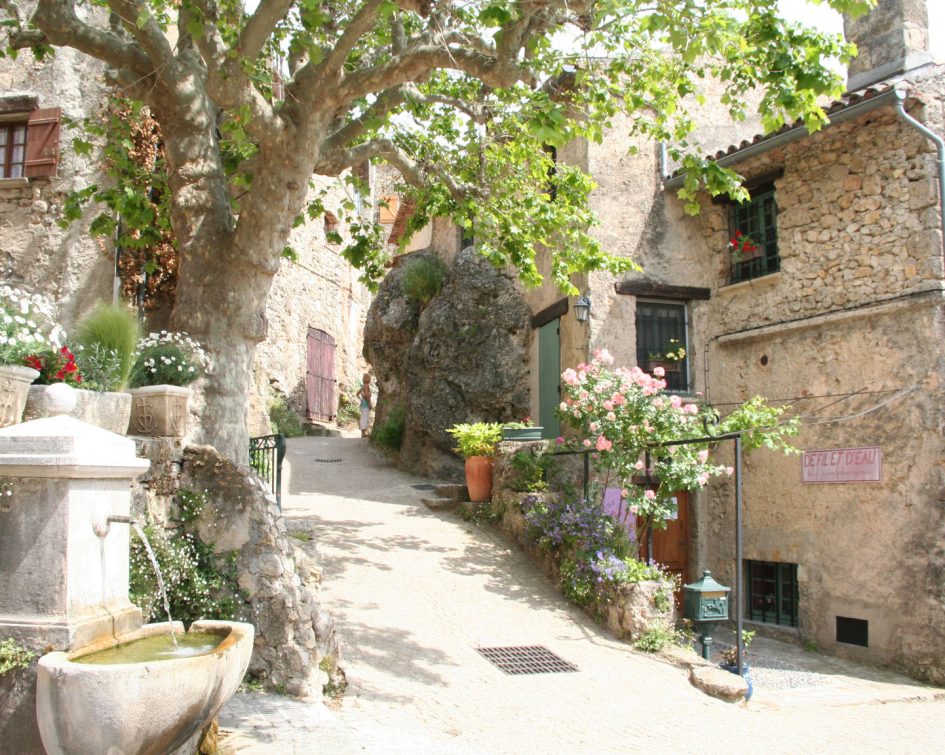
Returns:
[[[847,13],[875,5],[811,1]],[[801,118],[816,129],[818,98],[843,90],[826,64],[854,52],[785,21],[777,0],[25,2],[0,0],[7,54],[75,48],[160,126],[179,263],[173,321],[214,363],[197,440],[240,463],[272,279],[292,228],[324,211],[313,175],[386,161],[416,205],[408,230],[451,216],[532,285],[548,249],[551,277],[573,293],[574,273],[633,263],[601,247],[591,177],[563,163],[550,175],[549,147],[599,141],[623,114],[632,135],[682,162],[690,207],[701,186],[743,195],[691,141],[702,83],[724,85],[736,120],[760,98],[766,128]],[[344,254],[373,284],[379,227],[349,209]]]

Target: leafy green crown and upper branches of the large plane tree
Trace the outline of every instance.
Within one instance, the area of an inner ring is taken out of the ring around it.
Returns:
[[[846,13],[874,4],[824,1]],[[254,199],[254,173],[281,150],[303,150],[323,175],[384,160],[416,201],[412,229],[452,216],[529,284],[540,281],[536,247],[550,247],[565,289],[574,272],[617,272],[628,260],[589,233],[594,184],[553,166],[549,146],[599,141],[623,112],[634,133],[682,160],[690,204],[701,186],[737,194],[733,173],[691,151],[700,83],[724,84],[735,120],[760,92],[766,129],[800,118],[813,130],[825,120],[817,98],[843,89],[825,61],[853,53],[842,39],[786,22],[777,0],[93,0],[85,9],[39,0],[30,17],[4,5],[12,48],[75,47],[144,102],[175,92],[176,108],[156,108],[158,121],[186,110],[188,88],[205,89],[218,110],[234,218]],[[316,198],[294,222],[323,209]],[[349,220],[345,254],[374,282],[379,234]]]

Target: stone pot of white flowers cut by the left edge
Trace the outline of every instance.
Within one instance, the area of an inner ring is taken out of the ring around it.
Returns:
[[[58,348],[60,336],[43,296],[0,286],[0,427],[22,419],[30,384],[39,377],[26,358]]]

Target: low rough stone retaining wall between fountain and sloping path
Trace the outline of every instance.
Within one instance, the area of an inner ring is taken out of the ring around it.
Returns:
[[[141,517],[147,510],[177,534],[199,537],[213,548],[221,571],[235,564],[245,614],[239,618],[256,628],[250,674],[268,689],[320,694],[328,677],[319,663],[326,656],[337,660],[338,646],[333,621],[318,602],[314,543],[308,543],[310,553],[294,546],[266,486],[209,446],[183,448],[180,440],[159,438],[139,440],[138,453],[151,468],[133,488],[133,513]],[[196,518],[187,522],[174,513],[173,497],[182,489],[205,493]]]

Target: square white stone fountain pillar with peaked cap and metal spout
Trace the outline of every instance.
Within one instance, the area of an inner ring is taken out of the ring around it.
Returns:
[[[129,527],[107,519],[128,515],[131,481],[147,468],[133,441],[65,415],[0,430],[0,638],[43,653],[140,626]],[[34,676],[3,684],[0,741],[42,753]]]

